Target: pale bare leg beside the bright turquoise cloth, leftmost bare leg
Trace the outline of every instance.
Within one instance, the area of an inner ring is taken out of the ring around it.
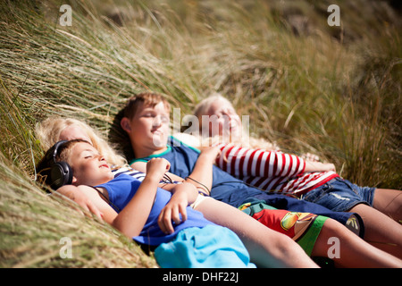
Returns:
[[[246,246],[251,261],[262,267],[317,267],[295,241],[258,223],[237,208],[206,198],[196,210],[205,218],[238,234]]]

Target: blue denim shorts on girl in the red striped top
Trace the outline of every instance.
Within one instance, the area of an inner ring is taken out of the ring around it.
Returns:
[[[337,177],[310,190],[302,199],[325,206],[334,212],[348,212],[358,204],[373,206],[374,190],[375,188],[359,187]]]

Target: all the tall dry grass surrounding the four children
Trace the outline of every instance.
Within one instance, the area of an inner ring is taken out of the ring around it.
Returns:
[[[0,4],[0,266],[153,267],[130,241],[34,182],[50,114],[107,136],[145,90],[181,114],[218,91],[256,137],[310,152],[362,185],[402,189],[401,22],[392,2],[60,1]],[[396,7],[398,8],[398,7]],[[71,238],[63,259],[60,239]]]

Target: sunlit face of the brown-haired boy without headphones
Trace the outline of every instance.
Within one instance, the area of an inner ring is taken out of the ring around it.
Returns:
[[[161,149],[166,147],[169,135],[169,110],[158,103],[154,107],[141,103],[130,120],[129,136],[136,153],[136,147]]]

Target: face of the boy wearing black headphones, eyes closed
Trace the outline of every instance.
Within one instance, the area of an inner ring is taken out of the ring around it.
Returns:
[[[73,185],[96,186],[113,179],[105,158],[89,143],[75,144],[71,148],[68,161],[73,170]]]

